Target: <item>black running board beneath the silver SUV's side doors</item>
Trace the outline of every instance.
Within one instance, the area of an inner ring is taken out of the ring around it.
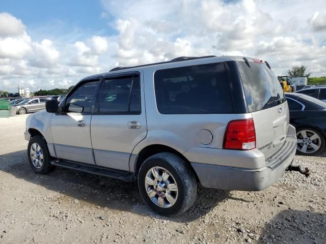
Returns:
[[[63,161],[63,160],[52,160],[51,165],[55,165],[58,167],[63,167],[67,169],[74,169],[78,171],[83,171],[86,173],[111,177],[115,179],[121,179],[123,181],[131,182],[136,180],[136,175],[129,171],[118,170],[118,169],[110,169],[104,168],[96,165],[87,165],[82,163]]]

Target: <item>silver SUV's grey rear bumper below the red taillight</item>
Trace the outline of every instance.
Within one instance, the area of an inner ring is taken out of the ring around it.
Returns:
[[[219,157],[219,151],[221,149],[216,150],[218,151],[215,151],[215,157]],[[264,160],[264,167],[252,169],[198,162],[192,162],[192,166],[203,187],[239,191],[260,191],[274,184],[275,181],[282,177],[285,169],[292,163],[295,151],[295,129],[290,125],[283,149],[267,161]],[[261,164],[260,161],[262,158],[256,157],[256,151],[253,153],[251,165]],[[245,155],[249,156],[248,151]],[[223,155],[223,159],[228,160],[225,155]],[[230,165],[232,165],[232,159],[234,159],[234,156],[231,154],[229,159]],[[244,161],[250,163],[250,158],[246,157]]]

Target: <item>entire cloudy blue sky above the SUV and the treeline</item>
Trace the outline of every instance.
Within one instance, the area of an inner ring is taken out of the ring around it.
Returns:
[[[240,55],[326,76],[324,0],[14,1],[0,4],[0,89],[68,87],[115,66]]]

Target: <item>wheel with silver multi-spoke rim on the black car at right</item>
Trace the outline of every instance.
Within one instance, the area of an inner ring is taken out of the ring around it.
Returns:
[[[325,147],[324,135],[310,127],[299,128],[296,132],[296,151],[300,155],[317,155]]]

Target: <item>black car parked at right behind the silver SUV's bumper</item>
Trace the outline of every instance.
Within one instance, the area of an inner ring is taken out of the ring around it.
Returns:
[[[290,124],[295,127],[297,152],[318,154],[325,147],[326,103],[300,93],[286,93]]]

